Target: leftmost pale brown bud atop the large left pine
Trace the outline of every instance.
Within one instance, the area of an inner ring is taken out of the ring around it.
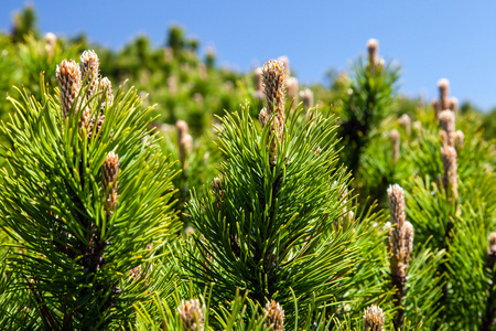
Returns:
[[[60,65],[57,65],[56,77],[61,89],[61,108],[65,122],[80,90],[82,83],[79,66],[73,60],[64,60]],[[75,110],[77,111],[77,106],[75,107]]]

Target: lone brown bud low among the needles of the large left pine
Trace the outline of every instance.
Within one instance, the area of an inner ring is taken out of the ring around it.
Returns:
[[[119,157],[110,151],[101,167],[101,190],[105,196],[105,211],[107,215],[111,215],[116,209],[117,184],[119,177]]]

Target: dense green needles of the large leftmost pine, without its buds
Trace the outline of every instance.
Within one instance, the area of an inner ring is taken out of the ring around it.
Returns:
[[[147,129],[151,108],[136,90],[118,90],[98,135],[87,138],[79,118],[87,106],[98,116],[101,98],[84,102],[82,89],[64,124],[58,98],[43,81],[40,88],[41,100],[19,90],[11,122],[2,126],[12,141],[2,152],[0,186],[1,225],[15,241],[7,257],[15,275],[9,291],[29,292],[33,329],[121,323],[143,296],[143,284],[128,281],[129,270],[152,258],[148,244],[162,244],[177,229],[170,168]],[[110,215],[101,186],[109,151],[120,160],[119,203]]]

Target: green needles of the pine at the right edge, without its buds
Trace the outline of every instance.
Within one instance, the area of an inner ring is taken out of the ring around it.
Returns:
[[[471,143],[474,147],[473,143]],[[439,320],[434,328],[477,330],[490,296],[492,271],[486,270],[487,243],[495,231],[495,178],[493,173],[475,170],[465,146],[459,158],[459,200],[453,202],[438,181],[427,175],[411,183],[407,199],[416,239],[428,243],[430,249],[445,252],[438,261],[442,276]],[[482,154],[479,154],[483,158]],[[474,172],[472,172],[474,171]],[[472,174],[468,174],[472,173]],[[477,173],[477,174],[476,174]]]

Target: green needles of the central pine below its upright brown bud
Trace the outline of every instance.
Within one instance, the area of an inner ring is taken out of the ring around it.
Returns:
[[[192,223],[202,234],[195,239],[202,257],[188,265],[193,279],[214,281],[220,300],[233,299],[236,288],[262,306],[274,299],[290,325],[295,323],[293,297],[302,319],[310,306],[354,306],[359,301],[354,289],[377,275],[355,269],[364,263],[365,247],[356,243],[373,233],[359,221],[339,221],[347,217],[339,196],[348,175],[337,163],[335,119],[291,113],[287,138],[278,146],[284,158],[272,167],[266,147],[270,126],[260,132],[248,111],[246,106],[222,119],[218,145],[226,162],[219,189],[191,202]],[[337,231],[333,226],[339,222],[345,227]]]

